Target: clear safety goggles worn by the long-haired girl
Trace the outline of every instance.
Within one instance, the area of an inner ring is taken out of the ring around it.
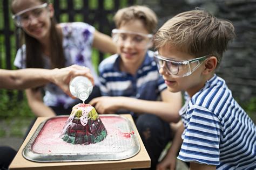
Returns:
[[[47,3],[44,3],[42,5],[33,6],[32,8],[25,9],[23,11],[20,11],[12,16],[12,19],[14,19],[14,22],[19,27],[28,26],[31,22],[31,15],[33,18],[36,19],[42,19],[45,17],[44,15],[44,8],[48,6]],[[30,11],[30,15],[26,15],[25,13]]]

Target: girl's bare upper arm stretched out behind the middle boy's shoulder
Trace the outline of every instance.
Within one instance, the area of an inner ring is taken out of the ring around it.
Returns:
[[[111,37],[107,36],[106,34],[100,33],[97,30],[95,30],[94,32],[92,46],[99,49],[99,51],[103,53],[117,53],[117,46],[112,41]]]

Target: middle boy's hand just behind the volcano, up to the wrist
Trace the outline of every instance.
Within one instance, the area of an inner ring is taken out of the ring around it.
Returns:
[[[115,114],[119,109],[120,103],[119,97],[97,97],[93,98],[89,104],[91,104],[97,110],[98,114]]]

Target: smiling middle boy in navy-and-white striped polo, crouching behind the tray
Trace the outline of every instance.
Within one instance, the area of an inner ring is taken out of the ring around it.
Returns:
[[[100,114],[130,113],[156,169],[159,155],[170,140],[170,122],[178,122],[181,93],[170,93],[158,73],[152,34],[157,25],[155,13],[145,6],[120,9],[112,31],[118,54],[99,65],[103,97],[90,104]]]

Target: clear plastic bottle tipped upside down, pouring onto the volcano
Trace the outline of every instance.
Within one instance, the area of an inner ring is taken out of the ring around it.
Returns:
[[[84,76],[76,76],[69,83],[71,94],[82,100],[83,103],[92,93],[92,88],[91,81]]]

